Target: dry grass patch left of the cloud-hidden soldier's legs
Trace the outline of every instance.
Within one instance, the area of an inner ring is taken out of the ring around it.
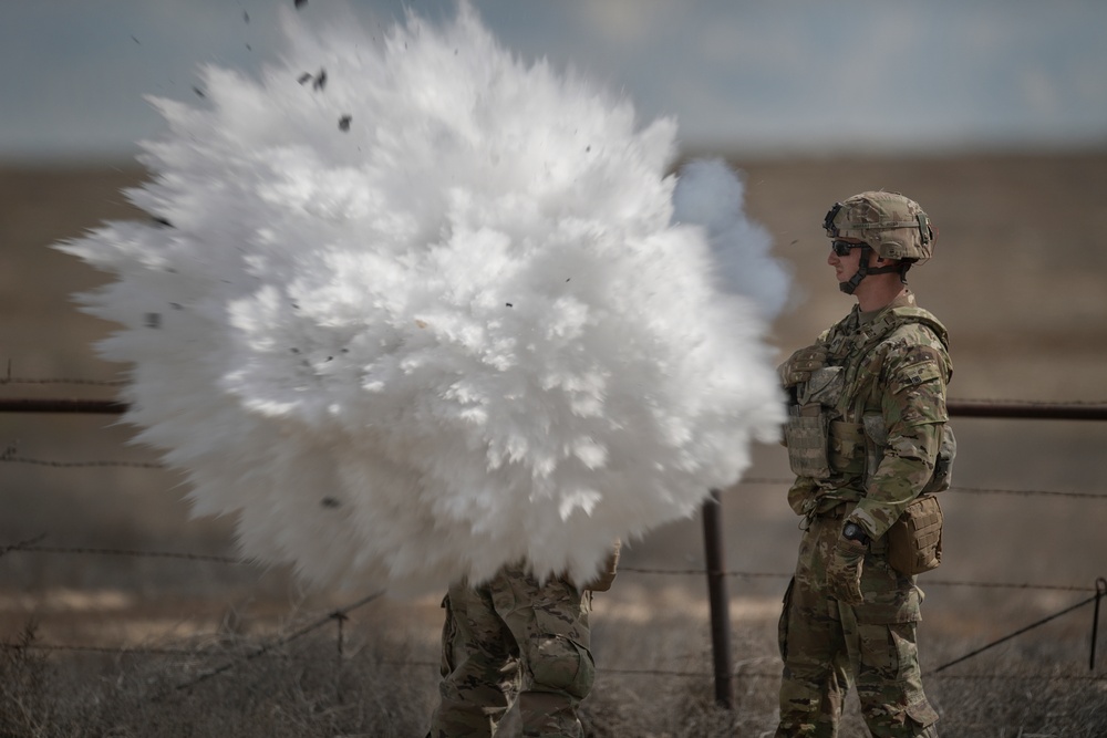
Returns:
[[[24,631],[21,643],[32,635]],[[6,651],[0,736],[391,738],[425,730],[431,674],[397,674],[392,662],[410,658],[402,644],[365,644],[342,658],[321,634],[256,658],[259,642],[249,636],[163,647],[189,653]],[[228,664],[234,667],[200,680]]]

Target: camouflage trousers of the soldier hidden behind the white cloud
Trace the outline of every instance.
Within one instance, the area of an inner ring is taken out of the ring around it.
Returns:
[[[592,687],[588,595],[523,567],[443,601],[441,701],[431,738],[495,736],[518,700],[526,738],[580,738],[577,707]]]

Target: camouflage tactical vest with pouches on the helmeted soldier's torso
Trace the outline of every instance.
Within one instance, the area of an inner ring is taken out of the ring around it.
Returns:
[[[851,314],[819,336],[827,350],[828,366],[811,373],[797,387],[796,402],[789,406],[785,437],[793,472],[815,480],[820,488],[834,489],[855,480],[860,490],[876,472],[888,446],[888,428],[873,401],[878,377],[866,361],[871,351],[896,329],[922,323],[949,350],[945,326],[929,311],[914,305],[889,308],[859,329],[850,330]],[[878,367],[879,368],[879,367]],[[921,384],[933,377],[909,375],[907,382]],[[945,377],[942,377],[943,381]],[[935,461],[934,474],[923,492],[948,489],[956,455],[956,439],[949,423]]]

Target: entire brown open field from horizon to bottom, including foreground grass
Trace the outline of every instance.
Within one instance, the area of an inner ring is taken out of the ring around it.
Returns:
[[[935,259],[910,281],[950,328],[951,396],[1107,402],[1107,153],[735,164],[748,211],[794,270],[795,305],[774,335],[782,355],[850,306],[825,264],[827,208],[862,189],[896,189],[940,229]],[[22,380],[6,382],[0,396],[112,396],[111,386],[38,383],[107,382],[120,370],[90,347],[111,326],[68,298],[106,277],[46,247],[103,219],[138,216],[118,191],[142,176],[0,169],[0,373]],[[1107,424],[965,418],[956,429],[944,563],[921,580],[924,669],[1087,599],[1107,576]],[[106,416],[0,414],[0,448],[9,449],[0,550],[44,536],[40,549],[234,555],[230,521],[188,520],[179,478],[141,466],[156,459],[128,446],[130,434]],[[136,466],[43,464],[103,460]],[[799,537],[784,500],[787,476],[783,449],[761,447],[747,482],[724,492],[734,657],[744,675],[735,714],[711,704],[702,576],[643,571],[703,568],[700,521],[682,521],[634,542],[614,589],[596,596],[592,735],[772,730],[776,615]],[[1018,493],[1041,491],[1062,495]],[[39,644],[190,655],[9,651],[20,657],[0,661],[0,700],[22,685],[34,699],[21,725],[53,720],[52,729],[13,735],[90,735],[64,730],[66,720],[115,736],[421,735],[435,697],[437,597],[385,595],[351,612],[340,655],[328,622],[176,688],[366,594],[301,593],[286,572],[219,561],[10,551],[0,555],[0,640],[18,642],[33,620]],[[1084,606],[931,676],[943,737],[1107,735],[1107,644],[1089,671],[1090,625]],[[865,735],[850,710],[844,736]]]

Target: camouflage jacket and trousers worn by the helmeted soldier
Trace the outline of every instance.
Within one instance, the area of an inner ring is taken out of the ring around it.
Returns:
[[[933,738],[938,715],[922,688],[915,641],[922,592],[913,576],[891,568],[883,534],[934,472],[949,419],[945,329],[908,292],[875,313],[855,308],[816,345],[826,349],[828,366],[841,367],[840,392],[821,398],[830,474],[798,476],[788,492],[806,531],[780,616],[785,667],[776,735],[837,735],[852,685],[873,736]],[[808,394],[803,384],[797,391]],[[856,567],[844,565],[841,553],[835,559],[847,520],[870,539]],[[836,599],[835,591],[853,585],[831,586],[828,573],[858,571],[860,603]]]

